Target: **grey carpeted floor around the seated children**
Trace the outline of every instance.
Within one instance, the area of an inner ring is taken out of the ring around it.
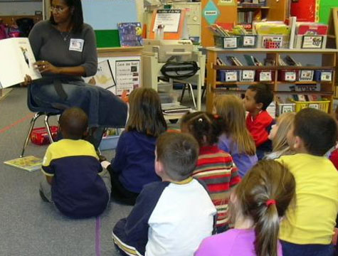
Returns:
[[[186,97],[190,102],[187,93]],[[0,255],[120,255],[113,245],[111,230],[117,220],[130,213],[130,206],[111,202],[100,216],[100,254],[97,254],[95,218],[63,217],[38,195],[40,171],[29,173],[3,164],[19,157],[32,115],[26,107],[26,88],[16,87],[0,100]],[[56,118],[52,117],[50,122],[56,124]],[[43,118],[36,127],[43,127]],[[25,156],[42,158],[46,148],[30,143]],[[102,154],[110,160],[114,152]]]

